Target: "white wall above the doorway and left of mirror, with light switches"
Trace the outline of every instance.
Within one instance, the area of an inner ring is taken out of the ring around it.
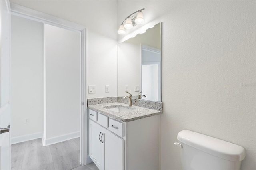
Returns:
[[[96,93],[88,98],[117,96],[117,1],[10,2],[86,26],[88,85],[96,85]],[[109,93],[105,93],[105,85],[109,85]]]

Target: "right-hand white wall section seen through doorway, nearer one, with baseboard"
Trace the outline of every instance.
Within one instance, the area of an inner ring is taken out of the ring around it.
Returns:
[[[80,33],[44,24],[45,144],[80,135]]]

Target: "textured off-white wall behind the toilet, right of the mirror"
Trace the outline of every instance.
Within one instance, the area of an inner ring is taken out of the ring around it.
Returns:
[[[118,23],[141,8],[163,22],[161,169],[181,169],[187,129],[243,146],[255,170],[256,1],[118,1]]]

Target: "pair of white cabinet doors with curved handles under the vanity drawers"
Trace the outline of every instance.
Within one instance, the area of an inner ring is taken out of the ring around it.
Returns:
[[[124,139],[89,120],[89,155],[100,170],[124,169]]]

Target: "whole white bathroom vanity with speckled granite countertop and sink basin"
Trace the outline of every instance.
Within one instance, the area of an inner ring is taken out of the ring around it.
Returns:
[[[117,102],[88,108],[89,156],[100,170],[160,169],[162,111]]]

